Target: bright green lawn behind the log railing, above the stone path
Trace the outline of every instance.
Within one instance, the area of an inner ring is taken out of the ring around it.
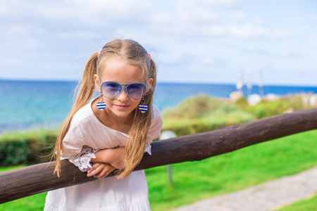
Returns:
[[[199,162],[173,165],[173,185],[168,184],[166,166],[146,170],[151,209],[168,210],[314,167],[316,136],[317,130],[313,130]],[[10,169],[0,169],[6,170]],[[0,210],[43,210],[45,195],[4,203]]]

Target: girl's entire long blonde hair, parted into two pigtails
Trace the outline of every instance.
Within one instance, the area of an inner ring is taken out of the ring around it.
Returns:
[[[92,100],[95,92],[94,75],[100,75],[101,67],[109,58],[119,56],[123,61],[131,65],[139,65],[143,70],[144,79],[153,79],[151,88],[142,98],[142,103],[148,106],[146,113],[141,113],[137,108],[134,120],[129,132],[129,138],[125,146],[125,166],[119,171],[118,179],[128,177],[135,167],[142,160],[145,147],[147,145],[147,132],[151,124],[153,110],[153,96],[156,87],[156,63],[154,63],[147,51],[137,41],[130,39],[116,39],[108,42],[100,51],[94,53],[85,65],[82,82],[77,86],[77,96],[73,108],[63,123],[57,136],[53,158],[56,158],[54,173],[58,177],[61,174],[61,151],[63,151],[63,139],[65,138],[70,122],[75,113]]]

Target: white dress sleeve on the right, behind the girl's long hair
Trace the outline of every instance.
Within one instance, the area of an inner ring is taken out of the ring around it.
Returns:
[[[151,143],[154,139],[159,138],[162,126],[163,120],[161,112],[159,108],[153,105],[152,122],[147,132],[147,146],[145,148],[145,152],[149,153],[149,155],[151,155]]]

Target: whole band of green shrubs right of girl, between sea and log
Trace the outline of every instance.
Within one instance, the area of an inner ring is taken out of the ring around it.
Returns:
[[[279,115],[287,110],[304,109],[301,96],[283,96],[275,101],[263,100],[256,106],[249,106],[245,98],[230,103],[201,94],[187,98],[176,108],[163,110],[162,129],[183,136]]]

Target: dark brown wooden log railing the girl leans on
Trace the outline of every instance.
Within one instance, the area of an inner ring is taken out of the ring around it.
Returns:
[[[152,155],[144,154],[135,170],[203,160],[311,129],[317,129],[317,108],[155,141],[151,144]],[[46,162],[0,173],[0,203],[94,180],[67,160],[61,162],[61,177],[58,178],[53,175],[54,165],[55,162]],[[108,177],[111,176],[113,174]]]

